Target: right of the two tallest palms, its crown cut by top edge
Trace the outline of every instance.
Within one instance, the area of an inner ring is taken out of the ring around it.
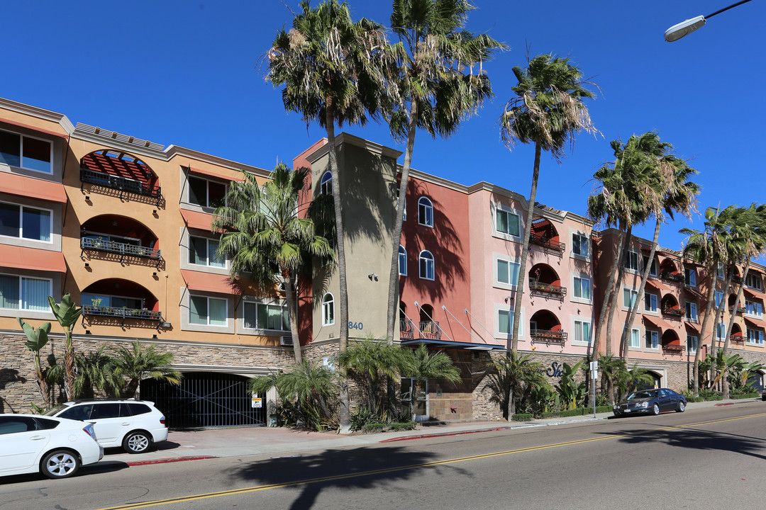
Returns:
[[[388,279],[386,339],[393,342],[398,315],[399,242],[404,202],[417,128],[432,137],[449,137],[463,119],[476,113],[493,96],[483,63],[494,50],[504,48],[486,34],[464,29],[467,0],[394,0],[391,30],[400,43],[393,48],[401,60],[398,108],[391,113],[391,134],[407,141],[401,168],[398,206],[394,221],[391,272]]]

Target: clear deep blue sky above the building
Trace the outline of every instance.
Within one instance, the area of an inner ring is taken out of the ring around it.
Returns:
[[[613,157],[610,141],[649,130],[690,159],[702,185],[700,210],[764,202],[758,149],[766,2],[749,2],[693,34],[666,43],[669,26],[732,0],[509,2],[473,0],[468,28],[509,45],[486,63],[496,97],[448,140],[418,135],[413,167],[460,184],[486,180],[529,195],[532,148],[509,151],[497,119],[512,97],[512,67],[530,54],[568,56],[600,89],[589,102],[603,137],[580,135],[558,164],[543,155],[538,201],[584,214],[591,177]],[[322,138],[283,109],[261,60],[296,0],[7,2],[0,96],[64,113],[162,145],[181,145],[270,169]],[[316,5],[316,0],[312,2]],[[389,2],[352,0],[355,19],[388,24]],[[12,20],[12,22],[8,22]],[[395,145],[385,125],[345,131]],[[403,158],[400,158],[400,162]],[[699,228],[702,222],[691,224]],[[660,244],[679,249],[683,219]],[[651,227],[651,226],[650,226]],[[649,237],[651,229],[638,229]]]

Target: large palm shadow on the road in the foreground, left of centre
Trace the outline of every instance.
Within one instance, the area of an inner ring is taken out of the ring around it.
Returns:
[[[436,453],[405,450],[403,447],[326,450],[313,455],[273,457],[230,470],[233,478],[264,485],[294,486],[300,494],[290,508],[311,508],[322,489],[393,489],[395,482],[417,476],[417,467],[435,462]],[[469,473],[454,466],[463,476]]]

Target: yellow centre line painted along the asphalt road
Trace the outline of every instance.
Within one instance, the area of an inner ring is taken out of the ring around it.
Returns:
[[[733,417],[733,418],[723,418],[721,420],[701,421],[696,424],[674,425],[673,427],[662,427],[662,428],[652,429],[650,430],[650,432],[657,432],[660,430],[672,430],[672,429],[678,429],[678,428],[699,427],[701,425],[719,424],[725,421],[743,420],[745,418],[754,418],[754,417],[762,417],[762,416],[766,416],[766,413],[750,414],[748,416],[740,416],[740,417]],[[607,436],[591,437],[590,439],[566,441],[565,443],[545,444],[540,447],[519,448],[517,450],[506,450],[503,452],[495,452],[495,453],[482,453],[480,455],[460,457],[457,459],[436,460],[434,462],[428,462],[428,463],[411,464],[410,466],[398,466],[398,467],[390,467],[385,469],[372,469],[370,471],[364,471],[362,473],[349,473],[345,475],[324,476],[321,478],[296,480],[294,482],[273,483],[267,486],[245,487],[244,489],[232,489],[232,490],[222,491],[222,492],[208,492],[207,494],[188,495],[188,496],[182,496],[182,497],[171,498],[171,499],[158,499],[156,501],[136,502],[136,503],[130,503],[128,505],[100,508],[100,510],[132,510],[133,508],[149,508],[152,506],[169,505],[171,503],[195,501],[197,499],[218,498],[224,495],[246,494],[247,492],[257,492],[257,491],[264,491],[268,489],[281,489],[283,487],[304,486],[304,485],[308,485],[309,483],[332,482],[334,480],[357,478],[358,476],[370,476],[370,475],[380,475],[385,473],[394,473],[396,471],[404,471],[407,469],[417,469],[417,468],[424,468],[424,467],[431,467],[431,466],[444,466],[445,464],[465,462],[466,460],[489,459],[490,457],[510,455],[512,453],[525,453],[525,452],[531,452],[535,450],[546,450],[548,448],[567,447],[573,444],[591,443],[593,441],[601,441],[606,439],[616,439],[618,437],[626,437],[626,436],[631,436],[634,434],[643,434],[645,432],[647,432],[647,430],[637,430],[635,432],[627,432],[624,434],[609,434]]]

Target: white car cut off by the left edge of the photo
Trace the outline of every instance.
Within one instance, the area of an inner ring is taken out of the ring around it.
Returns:
[[[96,441],[93,424],[0,414],[0,476],[40,472],[48,478],[67,478],[101,457],[103,447]]]

